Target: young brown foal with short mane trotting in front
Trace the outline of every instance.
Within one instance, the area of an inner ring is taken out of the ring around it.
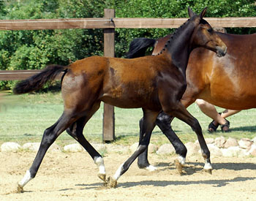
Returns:
[[[23,191],[23,186],[35,177],[46,151],[65,130],[89,152],[99,167],[99,178],[105,181],[102,156],[83,136],[83,127],[99,109],[100,102],[123,108],[141,107],[144,118],[138,149],[118,167],[113,177],[108,178],[108,186],[116,187],[118,178],[145,151],[161,110],[192,127],[202,148],[206,162],[204,169],[211,170],[210,152],[200,124],[180,102],[187,86],[185,72],[191,51],[203,47],[213,50],[218,56],[224,56],[227,51],[225,43],[203,20],[205,14],[206,8],[200,15],[189,9],[189,20],[170,37],[159,56],[134,59],[91,56],[67,67],[51,65],[38,75],[18,83],[14,93],[24,94],[41,88],[47,81],[65,72],[61,83],[64,112],[53,126],[45,129],[37,156],[18,183],[18,191]]]

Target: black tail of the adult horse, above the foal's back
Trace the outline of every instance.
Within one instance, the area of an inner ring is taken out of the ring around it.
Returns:
[[[126,54],[127,58],[137,58],[146,55],[146,50],[149,47],[154,47],[156,39],[138,38],[132,40],[129,44],[129,50]]]

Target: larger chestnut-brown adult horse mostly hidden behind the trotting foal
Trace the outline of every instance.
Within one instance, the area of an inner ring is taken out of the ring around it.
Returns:
[[[213,105],[231,110],[246,110],[256,107],[256,34],[236,35],[217,32],[227,45],[227,55],[219,58],[209,50],[197,48],[192,51],[187,66],[187,89],[181,102],[189,107],[196,99],[204,99]],[[160,53],[170,35],[159,39],[134,39],[127,53],[128,58],[145,56],[149,47],[153,55]],[[159,113],[156,124],[173,144],[183,161],[187,148],[178,139],[170,122],[173,116]],[[143,121],[143,120],[141,120]],[[142,122],[140,122],[142,124]],[[184,164],[177,163],[180,172]],[[147,150],[138,157],[138,166],[154,170],[148,162]]]

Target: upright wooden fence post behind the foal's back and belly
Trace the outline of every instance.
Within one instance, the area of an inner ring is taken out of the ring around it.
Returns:
[[[115,10],[105,9],[105,18],[115,18]],[[108,23],[113,23],[110,20]],[[104,29],[104,56],[115,56],[115,29]],[[104,142],[113,141],[115,138],[115,114],[112,105],[104,104],[103,136]]]

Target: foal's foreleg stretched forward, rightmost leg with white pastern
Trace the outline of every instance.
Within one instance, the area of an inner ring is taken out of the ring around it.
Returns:
[[[189,124],[189,126],[192,127],[193,131],[197,134],[197,139],[200,144],[202,155],[203,155],[203,158],[205,159],[205,165],[203,169],[211,173],[212,167],[211,167],[211,160],[210,160],[210,151],[208,150],[208,147],[206,145],[206,140],[203,137],[202,129],[197,119],[187,111],[187,109],[184,107],[184,105],[181,104],[181,102],[178,102],[178,104],[176,104],[175,109],[169,110],[165,108],[164,111],[165,113],[168,113],[169,115],[173,115],[174,117],[180,119],[181,121],[184,121],[185,123]]]

